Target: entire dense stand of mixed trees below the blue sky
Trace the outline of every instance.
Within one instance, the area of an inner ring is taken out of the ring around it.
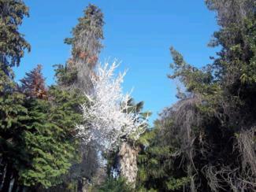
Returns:
[[[256,2],[205,4],[220,49],[196,68],[170,48],[178,102],[150,126],[119,63],[98,64],[101,9],[84,9],[46,86],[42,65],[15,80],[32,49],[19,31],[29,9],[0,0],[0,191],[256,191]]]

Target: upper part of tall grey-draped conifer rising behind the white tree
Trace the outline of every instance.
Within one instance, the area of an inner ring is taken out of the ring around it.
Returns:
[[[84,16],[72,29],[72,38],[65,43],[72,46],[72,57],[66,65],[57,65],[59,84],[63,87],[77,88],[89,93],[92,89],[91,72],[98,61],[102,49],[103,13],[97,6],[89,5],[84,10]]]

